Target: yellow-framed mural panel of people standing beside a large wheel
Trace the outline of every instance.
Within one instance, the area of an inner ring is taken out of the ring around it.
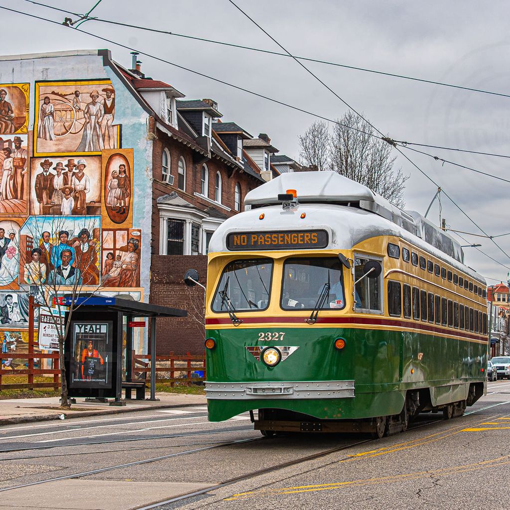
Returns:
[[[36,82],[34,156],[100,154],[120,146],[110,80]]]

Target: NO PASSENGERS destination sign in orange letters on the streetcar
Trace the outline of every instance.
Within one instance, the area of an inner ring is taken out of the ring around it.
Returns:
[[[327,243],[325,230],[231,232],[226,238],[229,250],[299,250],[325,248]]]

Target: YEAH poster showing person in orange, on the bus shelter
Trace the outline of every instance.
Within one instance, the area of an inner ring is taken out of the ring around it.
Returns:
[[[71,324],[70,388],[112,387],[112,322]]]

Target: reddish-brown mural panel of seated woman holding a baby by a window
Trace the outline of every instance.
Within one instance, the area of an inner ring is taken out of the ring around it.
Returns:
[[[101,284],[139,287],[142,231],[139,228],[103,229]]]

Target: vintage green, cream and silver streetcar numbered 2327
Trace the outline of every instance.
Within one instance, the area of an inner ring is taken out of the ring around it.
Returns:
[[[209,245],[210,421],[381,438],[487,392],[486,282],[446,232],[336,172],[282,174],[244,206]]]

